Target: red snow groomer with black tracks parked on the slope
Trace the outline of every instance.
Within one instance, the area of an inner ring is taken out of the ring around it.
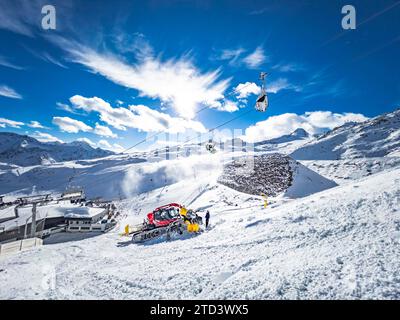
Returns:
[[[166,235],[199,232],[202,218],[178,203],[170,203],[147,214],[147,219],[132,234],[133,242],[143,242]]]

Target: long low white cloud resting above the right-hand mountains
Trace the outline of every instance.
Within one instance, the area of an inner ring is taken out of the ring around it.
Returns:
[[[302,128],[310,134],[320,133],[324,129],[333,129],[346,122],[362,122],[368,118],[356,113],[332,113],[330,111],[306,112],[303,115],[284,113],[269,117],[248,127],[243,137],[246,141],[257,142],[290,134]]]

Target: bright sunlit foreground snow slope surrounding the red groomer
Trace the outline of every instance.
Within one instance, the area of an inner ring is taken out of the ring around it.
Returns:
[[[181,181],[122,203],[120,230],[185,198],[210,210],[210,230],[144,245],[114,230],[22,252],[0,262],[0,298],[399,299],[399,177],[378,173],[267,209],[219,184]]]

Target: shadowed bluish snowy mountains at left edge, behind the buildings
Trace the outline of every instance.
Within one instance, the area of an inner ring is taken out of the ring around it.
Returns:
[[[34,166],[62,161],[94,159],[114,154],[85,142],[40,142],[29,136],[0,132],[0,162]]]

